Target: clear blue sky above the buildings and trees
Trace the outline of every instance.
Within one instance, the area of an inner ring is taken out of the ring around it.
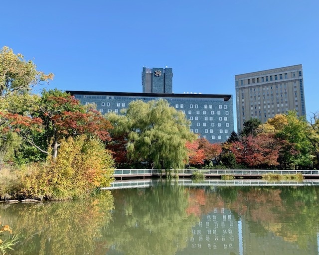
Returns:
[[[47,89],[142,92],[143,66],[168,66],[174,93],[232,94],[235,106],[236,74],[302,64],[307,115],[319,111],[319,0],[3,0],[0,9],[0,46],[54,73]]]

